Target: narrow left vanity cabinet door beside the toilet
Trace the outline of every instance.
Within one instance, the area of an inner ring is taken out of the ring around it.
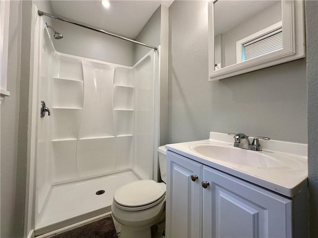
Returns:
[[[191,175],[198,178],[192,181]],[[166,237],[200,238],[202,164],[167,151]]]

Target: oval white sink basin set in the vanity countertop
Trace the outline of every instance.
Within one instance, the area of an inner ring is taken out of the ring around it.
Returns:
[[[217,159],[236,165],[242,165],[260,169],[290,169],[286,166],[286,161],[274,158],[270,153],[244,150],[230,146],[215,146],[210,144],[189,145],[190,150],[204,156],[205,158]],[[288,158],[284,158],[286,160]],[[285,166],[284,166],[284,165]]]

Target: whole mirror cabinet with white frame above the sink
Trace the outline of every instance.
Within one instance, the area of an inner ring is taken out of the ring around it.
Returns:
[[[305,57],[304,2],[209,2],[209,80]]]

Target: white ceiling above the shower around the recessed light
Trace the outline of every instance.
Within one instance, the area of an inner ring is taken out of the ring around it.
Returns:
[[[173,0],[111,0],[105,8],[100,0],[51,0],[53,14],[135,39],[162,3]]]

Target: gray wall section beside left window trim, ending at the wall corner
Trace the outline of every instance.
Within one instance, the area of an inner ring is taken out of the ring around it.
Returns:
[[[21,6],[19,1],[10,3],[7,90],[10,96],[1,104],[1,234],[14,237],[15,187],[17,166]],[[16,20],[13,20],[16,19]]]

